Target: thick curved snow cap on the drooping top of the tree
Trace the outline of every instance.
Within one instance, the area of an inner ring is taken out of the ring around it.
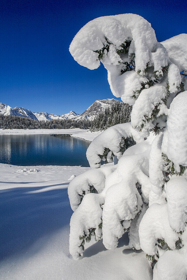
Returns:
[[[144,34],[143,36],[141,36]],[[143,38],[142,38],[143,37]],[[136,67],[144,70],[149,62],[149,49],[156,46],[156,36],[151,24],[144,18],[134,14],[100,17],[88,22],[80,29],[70,45],[70,53],[82,66],[96,69],[100,65],[96,50],[103,48],[107,38],[112,43],[112,62],[118,64],[114,47],[120,48],[125,39],[133,40],[136,53]],[[115,59],[116,57],[116,59]],[[109,60],[111,58],[108,58]],[[107,58],[106,58],[107,60]],[[104,60],[105,62],[105,60]],[[110,64],[112,63],[110,60]]]

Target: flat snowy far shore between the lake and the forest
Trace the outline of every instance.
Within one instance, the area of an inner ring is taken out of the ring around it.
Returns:
[[[71,134],[73,137],[92,141],[101,131],[91,132],[89,129],[0,129],[0,134]]]

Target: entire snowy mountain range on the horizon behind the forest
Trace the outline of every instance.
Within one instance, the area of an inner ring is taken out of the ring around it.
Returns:
[[[93,120],[100,112],[105,111],[105,108],[110,107],[116,99],[103,99],[103,100],[96,100],[94,103],[86,109],[82,114],[77,114],[74,111],[70,111],[67,114],[63,115],[55,115],[49,113],[33,113],[29,109],[25,109],[23,107],[15,107],[11,108],[10,106],[0,103],[0,114],[7,115],[7,116],[22,116],[27,117],[33,120],[52,120],[52,119],[88,119]]]

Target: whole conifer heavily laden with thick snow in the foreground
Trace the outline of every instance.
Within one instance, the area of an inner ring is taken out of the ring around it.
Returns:
[[[133,105],[130,123],[93,140],[91,170],[68,187],[73,258],[92,235],[112,249],[128,231],[130,248],[151,260],[154,279],[186,279],[186,44],[187,34],[159,43],[134,14],[96,18],[71,42],[74,59],[89,69],[103,63],[112,93]],[[106,159],[114,165],[101,167]]]

